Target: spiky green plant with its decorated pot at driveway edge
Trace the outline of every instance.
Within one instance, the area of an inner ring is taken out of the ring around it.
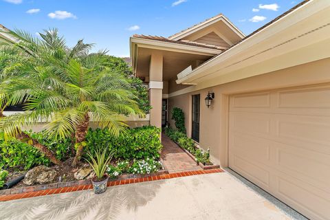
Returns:
[[[88,152],[87,155],[89,159],[91,159],[91,161],[87,159],[86,160],[95,172],[95,177],[91,179],[91,183],[94,187],[94,192],[96,194],[101,194],[102,192],[105,192],[105,190],[107,190],[107,182],[109,176],[107,175],[107,173],[105,173],[105,171],[107,170],[107,165],[112,159],[113,153],[109,153],[109,155],[107,156],[107,148],[105,148],[104,151],[97,149],[95,153],[96,158],[94,158],[91,152]]]

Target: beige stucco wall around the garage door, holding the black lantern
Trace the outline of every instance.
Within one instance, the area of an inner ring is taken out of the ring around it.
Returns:
[[[170,97],[168,110],[169,115],[171,115],[173,107],[180,107],[184,110],[186,128],[190,135],[190,97],[192,94],[201,94],[200,146],[204,149],[210,148],[211,159],[214,162],[221,166],[228,166],[228,98],[230,94],[318,83],[330,83],[330,58]],[[204,103],[208,91],[215,94],[209,109]],[[170,120],[170,116],[168,119]],[[170,124],[174,126],[172,120],[170,120]]]

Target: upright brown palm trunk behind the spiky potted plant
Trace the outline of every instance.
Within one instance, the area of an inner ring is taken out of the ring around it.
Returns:
[[[81,142],[85,141],[87,130],[89,126],[89,115],[88,113],[85,114],[85,120],[81,122],[76,129],[76,145],[78,145],[78,148],[76,150],[76,157],[74,157],[74,162],[72,163],[72,166],[77,166],[77,163],[80,161],[81,156],[84,152],[84,146]]]

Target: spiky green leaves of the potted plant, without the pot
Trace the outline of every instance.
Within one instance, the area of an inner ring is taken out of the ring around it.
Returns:
[[[107,148],[104,148],[103,151],[98,148],[96,149],[95,154],[96,158],[94,158],[94,155],[91,152],[87,152],[87,156],[91,162],[89,162],[89,159],[86,159],[86,161],[91,165],[91,168],[93,168],[98,181],[101,181],[107,170],[107,166],[112,159],[113,153],[107,155]]]

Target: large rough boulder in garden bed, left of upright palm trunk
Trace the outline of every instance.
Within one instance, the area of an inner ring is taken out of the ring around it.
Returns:
[[[36,166],[26,173],[23,183],[29,186],[33,184],[47,184],[55,179],[56,170],[47,166]]]

